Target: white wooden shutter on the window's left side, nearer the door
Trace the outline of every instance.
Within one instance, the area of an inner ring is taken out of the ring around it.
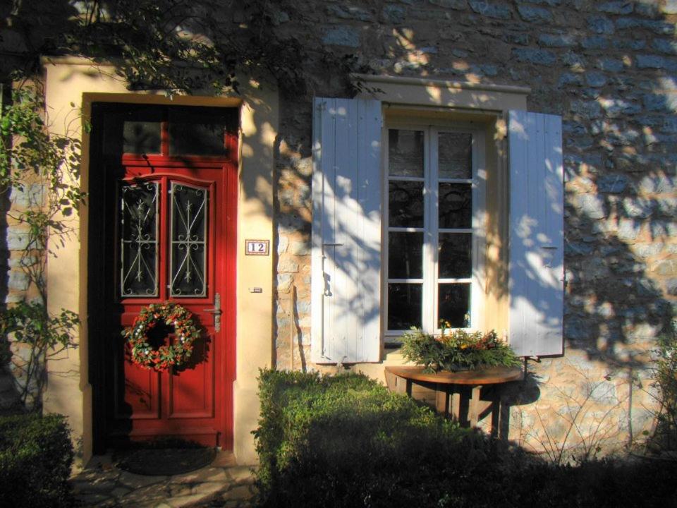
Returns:
[[[379,361],[381,103],[313,107],[312,359]]]

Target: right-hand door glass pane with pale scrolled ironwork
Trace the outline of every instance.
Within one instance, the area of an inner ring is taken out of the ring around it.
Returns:
[[[207,189],[171,183],[170,296],[207,294],[207,201]]]

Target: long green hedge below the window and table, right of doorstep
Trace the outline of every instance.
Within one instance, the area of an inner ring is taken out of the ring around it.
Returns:
[[[677,464],[556,466],[360,375],[262,371],[261,507],[675,506]]]

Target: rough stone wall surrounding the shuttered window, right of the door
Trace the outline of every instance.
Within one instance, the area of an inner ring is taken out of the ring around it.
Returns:
[[[654,337],[677,303],[677,2],[305,4],[310,25],[291,17],[276,29],[353,55],[367,73],[526,85],[530,111],[563,116],[566,353],[530,361],[511,387],[511,438],[545,451],[547,437],[614,447],[649,429]],[[284,100],[279,368],[312,368],[310,99],[345,95],[340,85],[329,75]]]

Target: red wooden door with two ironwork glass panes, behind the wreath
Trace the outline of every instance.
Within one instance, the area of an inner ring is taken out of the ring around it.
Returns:
[[[144,306],[171,301],[193,314],[201,334],[188,361],[160,373],[132,363],[117,341],[106,434],[231,448],[236,161],[169,153],[171,123],[162,118],[159,153],[123,153],[115,179],[114,319],[129,327]],[[231,134],[224,143],[233,149]],[[155,327],[150,344],[171,342],[172,332]]]

